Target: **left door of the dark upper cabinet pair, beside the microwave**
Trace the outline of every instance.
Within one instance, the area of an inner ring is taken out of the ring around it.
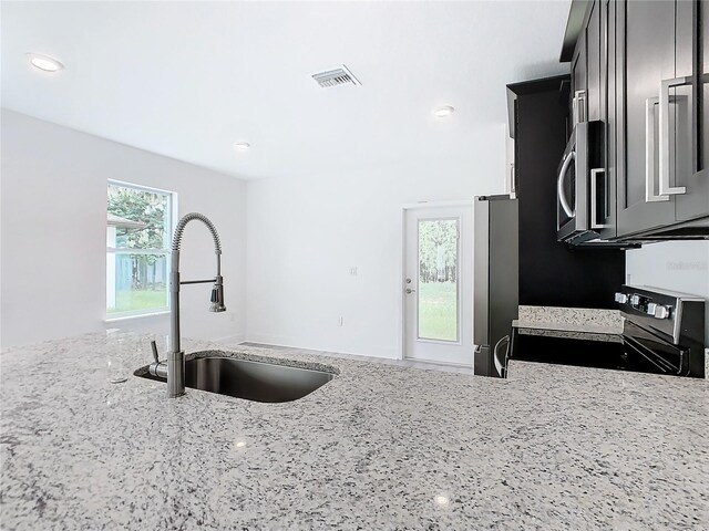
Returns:
[[[657,194],[657,103],[660,81],[675,77],[675,2],[618,1],[615,8],[617,229],[625,236],[675,221],[674,196]]]

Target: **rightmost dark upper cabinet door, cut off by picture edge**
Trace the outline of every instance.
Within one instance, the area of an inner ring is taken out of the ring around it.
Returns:
[[[677,83],[670,88],[676,123],[675,184],[684,192],[675,196],[678,221],[709,215],[709,4],[699,1],[677,2]],[[680,190],[678,190],[680,191]]]

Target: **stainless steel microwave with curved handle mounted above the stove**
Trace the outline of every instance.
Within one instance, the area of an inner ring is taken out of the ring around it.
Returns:
[[[603,165],[603,123],[580,122],[568,139],[556,176],[558,241],[579,244],[599,238],[596,214],[607,198],[598,197]]]

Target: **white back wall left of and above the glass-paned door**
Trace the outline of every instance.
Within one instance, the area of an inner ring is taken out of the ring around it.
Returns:
[[[249,181],[248,340],[398,357],[402,206],[502,192],[503,135],[482,127],[454,157],[422,146],[398,165]]]

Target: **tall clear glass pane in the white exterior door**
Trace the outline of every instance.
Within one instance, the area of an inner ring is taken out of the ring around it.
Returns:
[[[418,337],[459,341],[460,220],[419,219]]]

